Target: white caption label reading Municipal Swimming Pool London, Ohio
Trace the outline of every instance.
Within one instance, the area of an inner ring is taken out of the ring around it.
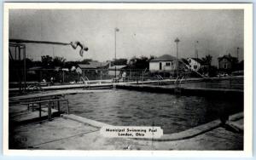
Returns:
[[[101,129],[104,137],[159,139],[163,129],[155,126],[105,126]]]

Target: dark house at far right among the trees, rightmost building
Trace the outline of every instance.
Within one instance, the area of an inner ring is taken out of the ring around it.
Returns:
[[[231,71],[237,67],[237,64],[237,58],[230,54],[218,57],[218,69],[220,71]]]

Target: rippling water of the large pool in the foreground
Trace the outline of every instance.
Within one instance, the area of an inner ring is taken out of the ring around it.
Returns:
[[[70,113],[122,126],[160,126],[177,133],[218,119],[223,112],[243,111],[243,100],[178,96],[116,89],[110,92],[69,94]]]

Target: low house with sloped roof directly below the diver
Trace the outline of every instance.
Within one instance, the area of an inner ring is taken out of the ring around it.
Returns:
[[[108,66],[108,62],[90,61],[89,64],[78,64],[76,71],[84,77],[86,74],[97,73],[104,69],[108,69]]]

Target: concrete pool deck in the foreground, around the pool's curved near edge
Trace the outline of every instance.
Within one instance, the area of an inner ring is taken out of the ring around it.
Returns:
[[[243,113],[230,117],[230,122],[243,125]],[[69,116],[69,118],[67,118]],[[164,134],[179,137],[168,141],[135,140],[128,138],[106,138],[100,134],[104,123],[83,117],[68,115],[56,117],[53,121],[28,123],[16,126],[10,134],[10,149],[47,150],[242,150],[243,133],[224,129],[219,122],[203,124],[183,133]],[[71,118],[70,118],[71,117]],[[95,125],[95,126],[93,126]],[[210,129],[211,128],[211,129]],[[205,132],[195,134],[195,130]],[[192,135],[187,136],[185,135]],[[185,138],[180,139],[183,136]],[[169,137],[170,138],[170,137]]]

